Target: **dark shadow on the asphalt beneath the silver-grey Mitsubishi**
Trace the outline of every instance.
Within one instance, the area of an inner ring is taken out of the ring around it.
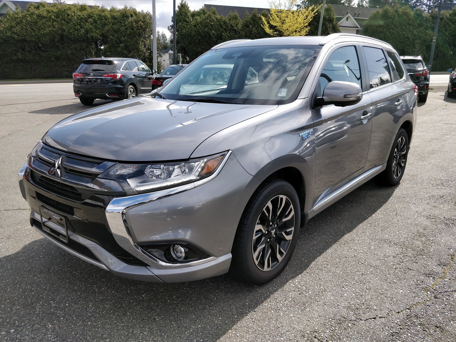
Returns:
[[[128,280],[40,238],[0,259],[2,338],[217,341],[269,296],[279,293],[285,298],[280,291],[287,282],[305,277],[306,269],[339,239],[363,229],[363,222],[395,189],[369,181],[312,218],[301,229],[287,268],[263,286],[246,285],[228,275],[183,284]]]

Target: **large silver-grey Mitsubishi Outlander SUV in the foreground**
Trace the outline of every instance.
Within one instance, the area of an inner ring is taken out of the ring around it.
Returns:
[[[399,183],[416,110],[383,41],[231,41],[157,91],[54,125],[20,186],[38,233],[116,275],[263,284],[307,220],[374,176]]]

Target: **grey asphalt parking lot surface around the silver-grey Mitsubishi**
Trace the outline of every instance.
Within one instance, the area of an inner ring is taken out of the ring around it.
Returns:
[[[17,172],[87,107],[71,83],[0,85],[0,341],[455,341],[456,100],[433,88],[399,186],[312,218],[283,274],[250,286],[119,278],[32,231]]]

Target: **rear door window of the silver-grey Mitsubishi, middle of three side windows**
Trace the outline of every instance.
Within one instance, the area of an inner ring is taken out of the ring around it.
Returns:
[[[382,49],[376,47],[363,47],[369,73],[369,88],[376,88],[383,84],[391,83],[389,65]]]

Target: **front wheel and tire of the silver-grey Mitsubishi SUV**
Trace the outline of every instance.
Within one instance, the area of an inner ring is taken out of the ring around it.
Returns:
[[[254,285],[273,280],[295,250],[300,220],[299,198],[290,183],[272,179],[262,184],[239,222],[230,273]]]

